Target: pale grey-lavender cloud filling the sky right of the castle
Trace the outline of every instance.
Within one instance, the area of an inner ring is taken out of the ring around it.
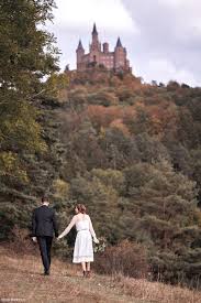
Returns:
[[[123,2],[141,32],[131,37],[132,64],[138,75],[201,85],[201,1],[149,0],[146,7],[142,0]]]

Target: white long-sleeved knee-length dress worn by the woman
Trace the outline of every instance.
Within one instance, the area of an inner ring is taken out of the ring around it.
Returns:
[[[59,238],[66,236],[72,226],[76,225],[77,236],[74,248],[74,263],[93,262],[92,238],[96,239],[96,234],[92,227],[89,215],[83,215],[82,218],[74,216],[67,228],[60,234]]]

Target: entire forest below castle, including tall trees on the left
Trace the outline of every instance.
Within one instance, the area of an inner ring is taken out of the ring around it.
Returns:
[[[53,1],[0,2],[0,239],[48,195],[60,231],[86,204],[98,237],[146,250],[153,277],[201,273],[201,88],[93,66],[58,74]],[[18,28],[18,32],[15,29]],[[46,80],[44,80],[46,76]],[[55,250],[70,255],[74,232]]]

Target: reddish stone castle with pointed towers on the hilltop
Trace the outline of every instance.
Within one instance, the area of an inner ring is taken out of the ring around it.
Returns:
[[[115,72],[132,71],[130,67],[130,62],[126,58],[126,48],[122,46],[120,37],[118,39],[114,52],[109,51],[108,42],[104,42],[103,47],[101,47],[96,23],[93,24],[92,42],[89,45],[89,53],[85,54],[81,41],[79,41],[76,53],[77,71],[86,71],[90,66],[102,66],[109,71]]]

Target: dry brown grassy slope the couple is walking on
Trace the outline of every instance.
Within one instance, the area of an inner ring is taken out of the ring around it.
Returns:
[[[43,277],[41,275],[42,271],[38,252],[34,255],[23,251],[19,255],[13,249],[0,248],[0,297],[21,299],[21,302],[34,303],[201,302],[200,292],[152,283],[146,280],[94,274],[91,279],[83,279],[79,267],[55,258],[53,259],[52,274]],[[0,302],[3,301],[0,300]]]

